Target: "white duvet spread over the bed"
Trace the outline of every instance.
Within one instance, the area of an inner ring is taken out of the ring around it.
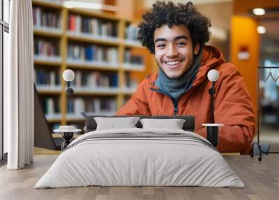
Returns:
[[[98,138],[96,134],[186,134],[177,129],[91,131],[70,143],[35,188],[101,186],[245,187],[217,150],[183,138]],[[101,136],[101,135],[100,135]]]

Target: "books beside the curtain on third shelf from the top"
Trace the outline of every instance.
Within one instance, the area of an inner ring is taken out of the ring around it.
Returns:
[[[45,69],[34,69],[34,83],[38,85],[60,85],[59,73]]]

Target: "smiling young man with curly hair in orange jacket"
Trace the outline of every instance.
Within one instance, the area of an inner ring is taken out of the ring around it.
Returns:
[[[158,72],[147,76],[117,115],[194,115],[195,132],[206,137],[202,123],[211,122],[211,69],[216,81],[214,119],[223,123],[218,149],[250,151],[255,115],[238,69],[227,63],[209,41],[211,22],[193,3],[160,2],[143,16],[139,39],[155,55]]]

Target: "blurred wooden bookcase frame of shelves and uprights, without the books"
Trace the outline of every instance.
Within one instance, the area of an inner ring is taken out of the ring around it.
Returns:
[[[98,87],[97,90],[93,90],[93,87],[90,88],[77,88],[72,87],[74,90],[73,97],[90,97],[90,98],[100,98],[106,99],[105,97],[110,97],[113,100],[116,100],[116,108],[119,109],[123,106],[123,99],[130,94],[133,94],[134,89],[129,89],[123,87],[126,85],[125,76],[126,73],[133,73],[133,76],[136,76],[137,73],[142,73],[145,70],[144,66],[146,64],[133,65],[124,63],[124,54],[126,48],[136,48],[136,52],[142,51],[142,45],[137,41],[129,41],[125,38],[126,24],[133,22],[132,20],[125,20],[115,15],[110,15],[106,13],[94,13],[93,10],[86,9],[77,9],[77,8],[65,8],[63,3],[50,1],[50,0],[33,0],[33,5],[41,6],[45,10],[50,10],[52,8],[56,9],[58,13],[60,29],[49,28],[49,27],[33,27],[33,34],[38,38],[43,38],[48,41],[52,41],[59,45],[59,56],[58,57],[49,57],[49,56],[38,56],[34,55],[34,65],[38,66],[55,66],[61,74],[66,69],[80,70],[82,73],[91,73],[91,71],[101,71],[101,73],[109,74],[117,73],[118,75],[118,87],[115,89]],[[103,19],[113,23],[113,27],[117,28],[117,36],[99,36],[75,31],[68,30],[68,18],[71,14],[81,15],[82,17],[94,17],[98,19]],[[115,23],[115,24],[114,24]],[[118,64],[112,64],[110,62],[86,62],[86,61],[77,61],[73,59],[68,59],[68,44],[96,44],[96,45],[105,45],[108,48],[115,48],[117,50],[117,60]],[[136,53],[135,53],[136,54]],[[144,59],[144,62],[146,59]],[[43,69],[45,70],[45,69]],[[48,70],[48,69],[47,69]],[[60,103],[60,116],[56,115],[53,117],[47,116],[47,122],[49,123],[59,123],[61,125],[66,125],[68,122],[84,122],[84,117],[82,115],[67,115],[67,95],[66,95],[66,82],[61,78],[61,88],[59,90],[53,90],[51,88],[40,88],[38,87],[38,92],[40,95],[59,95]],[[123,89],[121,89],[123,88]],[[54,96],[54,98],[56,98]],[[114,108],[113,108],[114,109]],[[86,111],[86,110],[85,110]],[[86,112],[88,113],[88,112]],[[94,115],[95,113],[89,113],[89,115]],[[96,113],[98,115],[114,115],[114,113]]]

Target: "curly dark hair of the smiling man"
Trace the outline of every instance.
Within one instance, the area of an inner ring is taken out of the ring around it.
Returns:
[[[204,45],[209,41],[211,22],[208,17],[197,11],[192,2],[175,5],[172,1],[156,1],[152,7],[151,11],[142,16],[144,21],[139,25],[137,37],[152,54],[155,53],[154,31],[164,24],[167,24],[169,28],[173,25],[184,24],[190,31],[193,46]]]

